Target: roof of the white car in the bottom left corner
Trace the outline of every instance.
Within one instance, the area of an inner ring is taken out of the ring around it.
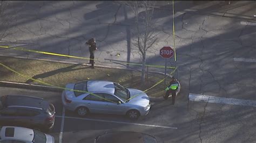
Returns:
[[[34,137],[34,132],[30,128],[16,127],[16,126],[3,126],[1,129],[2,139],[32,141],[33,137]]]

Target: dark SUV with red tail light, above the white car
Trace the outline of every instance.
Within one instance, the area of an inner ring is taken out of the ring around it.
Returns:
[[[2,104],[2,106],[1,106]],[[43,98],[6,95],[1,97],[0,124],[49,131],[55,122],[55,107]]]

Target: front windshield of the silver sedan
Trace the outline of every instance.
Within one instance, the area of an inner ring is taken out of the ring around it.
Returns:
[[[129,90],[117,83],[114,83],[114,95],[116,95],[123,101],[126,101],[130,98]]]

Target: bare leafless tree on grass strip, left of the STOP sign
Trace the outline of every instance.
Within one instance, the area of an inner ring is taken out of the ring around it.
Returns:
[[[126,2],[134,13],[134,21],[136,30],[136,40],[133,46],[138,48],[142,55],[142,77],[141,81],[145,81],[145,65],[146,65],[146,52],[153,47],[157,41],[157,33],[155,23],[152,21],[154,9],[152,8],[154,2],[152,1],[130,1]]]

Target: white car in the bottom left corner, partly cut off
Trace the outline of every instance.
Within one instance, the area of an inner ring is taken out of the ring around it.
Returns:
[[[42,132],[32,130],[25,127],[16,126],[3,126],[0,131],[0,142],[10,143],[28,143],[28,142],[42,142],[42,143],[54,143],[54,138],[49,134],[44,134]]]

